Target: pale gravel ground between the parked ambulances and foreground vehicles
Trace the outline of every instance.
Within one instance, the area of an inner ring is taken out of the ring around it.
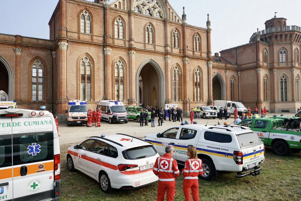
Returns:
[[[284,114],[284,116],[293,116],[293,113],[281,113]],[[272,117],[273,114],[267,114],[268,117]],[[277,114],[277,116],[280,116],[280,114]],[[190,119],[188,117],[183,117],[183,121],[187,120],[190,122]],[[208,124],[208,125],[215,125],[218,123],[219,119],[195,119],[198,124]],[[228,120],[220,120],[221,124],[224,122],[230,122],[231,124],[234,122],[234,116],[231,115]],[[104,135],[112,135],[116,133],[123,133],[130,136],[135,136],[138,138],[143,138],[144,135],[149,133],[159,133],[164,131],[165,129],[174,126],[174,125],[180,125],[181,122],[172,122],[169,121],[168,118],[164,120],[164,123],[162,126],[158,125],[158,118],[155,119],[155,127],[151,127],[151,122],[148,122],[148,126],[140,127],[140,124],[136,120],[129,120],[128,123],[113,123],[110,124],[108,122],[101,121],[101,127],[86,127],[84,125],[71,125],[67,126],[66,122],[59,122],[59,134],[61,135],[60,139],[60,147],[61,150],[64,150],[66,147],[69,147],[70,145],[76,145],[82,142],[83,140],[87,139],[91,136],[101,136]]]

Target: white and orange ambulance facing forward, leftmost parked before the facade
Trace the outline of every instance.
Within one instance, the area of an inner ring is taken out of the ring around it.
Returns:
[[[70,100],[68,102],[67,113],[67,126],[71,124],[87,124],[87,103],[80,100]]]

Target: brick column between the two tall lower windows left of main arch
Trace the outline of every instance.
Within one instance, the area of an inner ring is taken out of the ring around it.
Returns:
[[[105,99],[106,100],[113,100],[113,92],[115,91],[115,86],[113,84],[113,79],[112,77],[114,76],[113,71],[112,71],[112,66],[110,66],[111,63],[111,48],[104,48],[104,59],[105,59],[105,69],[106,72],[106,90],[105,90]]]

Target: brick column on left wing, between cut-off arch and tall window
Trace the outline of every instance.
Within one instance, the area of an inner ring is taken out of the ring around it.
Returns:
[[[15,82],[16,82],[16,93],[15,93],[15,99],[16,101],[22,101],[21,99],[21,54],[23,52],[22,48],[14,48],[15,51]],[[37,72],[38,73],[38,72]],[[30,77],[31,79],[31,77]],[[31,100],[31,99],[29,99]]]

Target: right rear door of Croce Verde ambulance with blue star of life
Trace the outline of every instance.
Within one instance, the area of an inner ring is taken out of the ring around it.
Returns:
[[[13,132],[13,198],[54,196],[53,121],[47,117],[11,119]]]

